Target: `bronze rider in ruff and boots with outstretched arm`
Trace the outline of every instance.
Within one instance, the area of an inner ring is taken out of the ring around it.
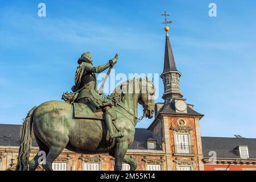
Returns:
[[[95,73],[100,73],[109,67],[113,67],[114,64],[117,63],[117,57],[109,60],[109,63],[94,67],[90,52],[85,52],[81,55],[77,63],[80,64],[80,66],[76,72],[75,85],[72,87],[72,91],[76,92],[77,90],[84,88],[80,91],[76,102],[87,104],[93,111],[102,109],[102,111],[104,111],[104,118],[109,130],[110,138],[123,137],[121,132],[114,133],[111,114],[113,104],[108,98],[102,97],[102,95],[98,93],[95,76]]]

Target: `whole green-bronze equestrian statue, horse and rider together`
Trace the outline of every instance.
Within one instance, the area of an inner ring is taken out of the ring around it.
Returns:
[[[118,85],[111,96],[97,92],[95,73],[117,63],[117,56],[109,63],[94,67],[90,53],[79,59],[73,93],[64,93],[62,101],[48,101],[33,107],[23,122],[17,171],[34,171],[42,156],[37,154],[29,162],[32,131],[39,152],[46,152],[43,168],[52,171],[52,162],[64,148],[81,154],[108,153],[115,158],[114,169],[120,171],[122,163],[137,168],[135,160],[126,155],[133,143],[138,121],[138,104],[143,116],[154,114],[155,87],[147,78],[133,78]]]

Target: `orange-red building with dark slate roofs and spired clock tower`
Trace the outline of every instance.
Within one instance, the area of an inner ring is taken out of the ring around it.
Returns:
[[[256,139],[201,137],[203,114],[187,104],[180,90],[170,38],[166,33],[163,103],[155,104],[155,119],[148,129],[136,129],[127,155],[139,171],[255,170]],[[0,124],[0,171],[15,170],[21,125]],[[32,141],[30,159],[39,148]],[[64,150],[52,165],[55,171],[114,170],[108,154],[82,155]],[[122,170],[130,166],[123,163]],[[43,170],[39,165],[38,170]]]

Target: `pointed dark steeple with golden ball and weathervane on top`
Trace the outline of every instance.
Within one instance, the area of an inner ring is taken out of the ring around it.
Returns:
[[[167,24],[172,22],[168,22],[166,16],[170,16],[170,14],[166,14],[166,11],[164,11],[164,14],[162,15],[165,16],[165,22],[163,23],[166,24],[166,27],[164,27],[164,30],[166,31],[166,48],[164,52],[164,69],[160,77],[164,82],[164,94],[162,98],[169,103],[174,98],[182,98],[183,94],[180,91],[181,73],[177,71],[174,54],[172,53],[172,47],[168,36],[170,28]]]

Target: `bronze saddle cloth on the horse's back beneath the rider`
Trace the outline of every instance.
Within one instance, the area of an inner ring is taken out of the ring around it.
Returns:
[[[75,118],[105,120],[102,109],[93,112],[87,104],[74,102],[72,105]],[[112,114],[112,119],[117,119],[115,110],[110,109],[109,111]]]

